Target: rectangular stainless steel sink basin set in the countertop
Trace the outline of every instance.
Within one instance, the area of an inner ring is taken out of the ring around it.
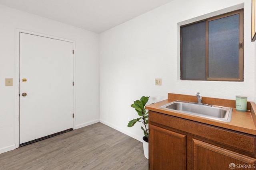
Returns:
[[[232,108],[230,107],[212,106],[179,100],[160,106],[160,108],[225,122],[230,122],[232,116]]]

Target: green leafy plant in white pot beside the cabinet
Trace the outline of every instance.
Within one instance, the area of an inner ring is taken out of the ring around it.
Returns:
[[[142,138],[143,139],[143,150],[144,150],[144,155],[147,159],[148,159],[148,127],[147,127],[148,111],[146,112],[145,105],[148,102],[148,98],[149,97],[142,96],[140,98],[140,100],[134,101],[134,103],[131,105],[131,107],[133,107],[137,111],[137,113],[140,117],[129,121],[129,123],[127,125],[128,127],[132,127],[136,122],[143,123],[144,126],[141,127],[141,129],[144,132],[144,137]]]

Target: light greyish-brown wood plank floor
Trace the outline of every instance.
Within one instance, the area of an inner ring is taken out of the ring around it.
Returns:
[[[102,123],[0,154],[0,170],[148,170],[140,141]]]

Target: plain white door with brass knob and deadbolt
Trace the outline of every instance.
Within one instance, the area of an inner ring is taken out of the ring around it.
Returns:
[[[73,43],[20,33],[20,144],[72,127]]]

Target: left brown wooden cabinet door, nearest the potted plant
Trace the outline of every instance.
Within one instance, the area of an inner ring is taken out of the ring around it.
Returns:
[[[150,125],[149,169],[185,170],[186,135]]]

